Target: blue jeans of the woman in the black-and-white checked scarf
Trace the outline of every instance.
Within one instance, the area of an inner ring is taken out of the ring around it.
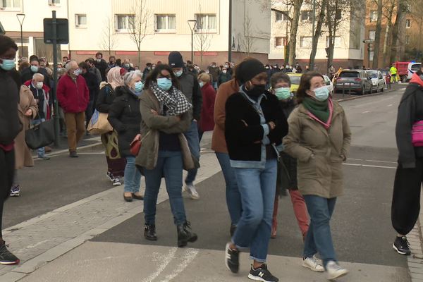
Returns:
[[[144,218],[145,223],[155,224],[157,195],[161,178],[166,181],[166,190],[171,203],[173,221],[176,225],[186,222],[182,197],[182,153],[180,151],[159,151],[154,169],[145,169]]]

